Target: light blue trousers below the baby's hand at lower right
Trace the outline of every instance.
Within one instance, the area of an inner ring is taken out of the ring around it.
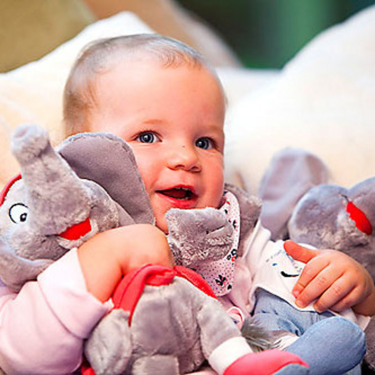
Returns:
[[[366,352],[365,334],[355,323],[331,312],[306,312],[259,290],[254,317],[270,331],[288,331],[299,338],[286,350],[310,365],[309,374],[360,374]]]

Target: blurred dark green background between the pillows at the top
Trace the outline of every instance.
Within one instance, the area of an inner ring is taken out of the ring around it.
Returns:
[[[178,0],[253,68],[281,68],[327,27],[375,0]]]

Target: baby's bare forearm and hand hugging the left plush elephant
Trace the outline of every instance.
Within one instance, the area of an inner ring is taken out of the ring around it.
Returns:
[[[128,271],[147,263],[173,265],[166,235],[150,224],[99,233],[78,249],[78,257],[87,290],[102,302]]]

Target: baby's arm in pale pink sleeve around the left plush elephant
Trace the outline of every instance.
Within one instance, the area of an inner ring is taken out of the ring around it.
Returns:
[[[0,284],[0,367],[6,373],[73,372],[83,340],[108,311],[102,302],[122,274],[145,263],[171,263],[158,230],[135,225],[98,234],[19,294]]]

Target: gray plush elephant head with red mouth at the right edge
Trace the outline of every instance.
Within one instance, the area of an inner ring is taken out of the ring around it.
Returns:
[[[375,281],[375,177],[351,188],[322,184],[296,204],[288,223],[290,238],[319,249],[345,252]],[[375,317],[366,330],[364,371],[375,373]]]

